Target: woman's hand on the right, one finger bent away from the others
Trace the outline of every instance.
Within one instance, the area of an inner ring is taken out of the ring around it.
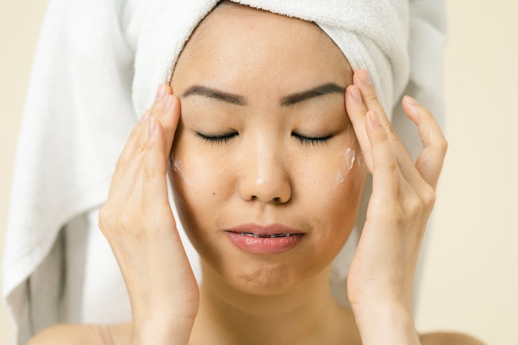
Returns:
[[[414,165],[366,70],[354,74],[345,106],[373,176],[365,226],[347,276],[349,302],[355,315],[382,306],[412,315],[414,270],[448,142],[430,112],[405,97],[403,109],[423,141]]]

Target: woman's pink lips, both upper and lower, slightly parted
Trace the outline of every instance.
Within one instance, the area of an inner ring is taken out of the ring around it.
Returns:
[[[254,235],[289,234],[282,237],[254,237]],[[230,241],[238,248],[252,254],[279,254],[295,248],[303,239],[305,233],[282,224],[260,226],[257,224],[242,224],[225,231]]]

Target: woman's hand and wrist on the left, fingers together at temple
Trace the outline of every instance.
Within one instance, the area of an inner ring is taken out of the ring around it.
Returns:
[[[199,289],[169,205],[166,174],[180,100],[160,86],[120,155],[99,227],[122,271],[133,344],[187,344]],[[154,124],[154,129],[153,129]]]

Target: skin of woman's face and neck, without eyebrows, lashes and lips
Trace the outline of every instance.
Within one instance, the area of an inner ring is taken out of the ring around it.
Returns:
[[[247,30],[240,30],[243,26]],[[283,39],[274,39],[278,32],[284,32]],[[305,39],[290,43],[297,32]],[[202,258],[193,344],[207,342],[207,334],[221,344],[253,344],[253,339],[311,344],[323,334],[343,335],[344,323],[337,320],[352,321],[350,311],[334,302],[328,284],[329,264],[352,230],[367,174],[365,164],[355,164],[343,184],[336,184],[336,173],[346,164],[344,150],[361,150],[345,116],[343,92],[293,106],[278,103],[285,95],[329,82],[345,89],[352,72],[327,35],[307,21],[294,25],[294,19],[244,6],[215,10],[182,52],[171,81],[179,95],[202,84],[248,100],[238,106],[180,96],[182,117],[172,156],[181,173],[170,170],[169,176],[182,224]],[[235,131],[239,138],[225,144],[196,135]],[[293,131],[334,137],[327,144],[301,144]],[[233,246],[223,231],[247,222],[278,222],[307,235],[287,253],[251,255]],[[311,333],[285,334],[295,328]]]

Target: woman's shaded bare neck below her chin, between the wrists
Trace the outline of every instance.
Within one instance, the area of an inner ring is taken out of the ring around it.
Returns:
[[[288,293],[253,295],[229,286],[202,262],[192,344],[316,344],[336,335],[349,313],[330,293],[329,269]]]

